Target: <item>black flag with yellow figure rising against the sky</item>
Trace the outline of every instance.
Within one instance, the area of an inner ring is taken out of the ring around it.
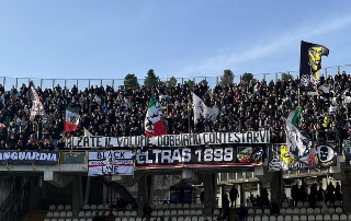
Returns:
[[[299,85],[317,89],[321,57],[328,56],[329,49],[322,45],[301,42]]]

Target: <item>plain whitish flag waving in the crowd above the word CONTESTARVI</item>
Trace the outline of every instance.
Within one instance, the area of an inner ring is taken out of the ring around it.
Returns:
[[[194,108],[194,123],[196,123],[200,119],[208,119],[211,121],[214,121],[219,111],[217,108],[207,107],[205,103],[193,93],[193,108]]]

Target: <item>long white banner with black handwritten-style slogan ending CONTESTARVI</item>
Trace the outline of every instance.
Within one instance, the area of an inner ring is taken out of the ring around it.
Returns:
[[[66,148],[129,148],[129,147],[189,147],[224,143],[269,143],[270,131],[204,132],[162,135],[158,137],[71,137],[66,138]]]

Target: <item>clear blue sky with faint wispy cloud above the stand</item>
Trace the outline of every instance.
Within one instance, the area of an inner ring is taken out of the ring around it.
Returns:
[[[330,49],[322,67],[350,65],[350,8],[348,0],[0,0],[0,77],[296,71],[301,40]]]

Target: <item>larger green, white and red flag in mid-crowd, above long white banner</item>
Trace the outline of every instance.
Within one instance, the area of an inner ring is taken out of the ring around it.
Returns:
[[[145,135],[147,137],[155,137],[167,135],[168,128],[162,113],[162,106],[152,96],[147,108],[145,117]]]

